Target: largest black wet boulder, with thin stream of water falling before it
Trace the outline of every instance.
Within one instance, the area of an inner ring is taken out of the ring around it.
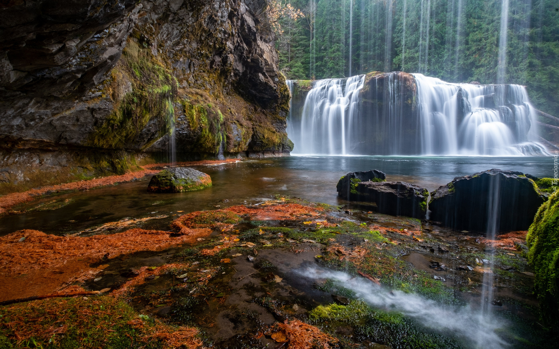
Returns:
[[[527,230],[546,195],[522,172],[491,169],[432,192],[429,218],[456,230]]]

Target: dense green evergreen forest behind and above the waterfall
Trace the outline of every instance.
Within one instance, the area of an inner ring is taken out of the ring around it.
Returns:
[[[305,15],[286,18],[279,36],[281,68],[288,78],[401,70],[449,82],[524,84],[539,109],[559,115],[556,1],[287,2]],[[509,7],[501,23],[503,3]],[[505,63],[501,73],[499,61]]]

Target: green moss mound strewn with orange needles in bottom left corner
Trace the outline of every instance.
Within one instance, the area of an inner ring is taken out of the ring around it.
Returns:
[[[133,326],[132,320],[143,326]],[[124,349],[147,344],[143,337],[154,325],[153,319],[138,319],[130,305],[108,296],[36,300],[0,307],[0,348]],[[165,345],[152,339],[146,347]]]

